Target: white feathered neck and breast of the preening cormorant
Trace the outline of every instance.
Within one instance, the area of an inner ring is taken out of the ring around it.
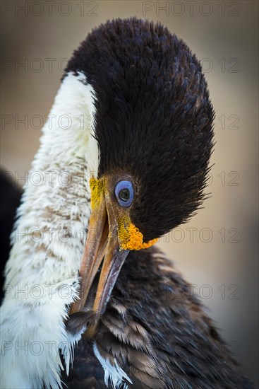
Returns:
[[[90,217],[88,178],[98,166],[92,98],[92,88],[82,74],[65,77],[25,185],[1,307],[2,340],[16,339],[2,358],[6,388],[59,385],[60,348],[69,368],[75,339],[68,339],[64,318],[77,296]],[[30,349],[33,342],[40,342],[38,359]]]

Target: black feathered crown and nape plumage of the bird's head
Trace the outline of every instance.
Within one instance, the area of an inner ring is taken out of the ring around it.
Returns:
[[[188,220],[203,201],[214,118],[191,50],[159,23],[116,19],[88,35],[66,71],[95,90],[98,175],[131,175],[144,239]]]

